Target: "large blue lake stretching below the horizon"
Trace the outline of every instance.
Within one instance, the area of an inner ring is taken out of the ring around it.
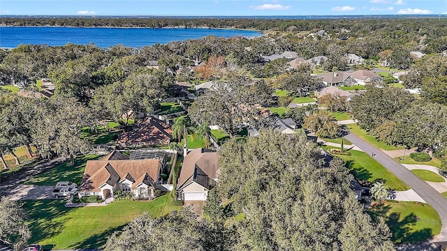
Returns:
[[[203,38],[205,36],[235,37],[262,36],[258,31],[238,29],[149,29],[149,28],[81,28],[81,27],[0,27],[0,47],[14,48],[17,45],[85,45],[94,43],[99,47],[125,45],[142,47],[156,43]]]

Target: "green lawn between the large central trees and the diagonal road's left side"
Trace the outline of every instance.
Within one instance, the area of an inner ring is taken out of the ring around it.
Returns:
[[[323,146],[323,149],[339,149],[334,146]],[[392,172],[388,171],[383,165],[374,160],[367,153],[362,151],[350,150],[351,155],[337,155],[346,162],[346,167],[356,178],[373,183],[376,180],[383,179],[386,187],[397,191],[409,190],[410,187],[397,178]]]

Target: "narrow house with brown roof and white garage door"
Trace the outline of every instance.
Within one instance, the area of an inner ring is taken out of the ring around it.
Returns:
[[[216,186],[219,175],[217,153],[207,149],[194,149],[184,156],[177,182],[179,199],[205,201],[208,191]]]

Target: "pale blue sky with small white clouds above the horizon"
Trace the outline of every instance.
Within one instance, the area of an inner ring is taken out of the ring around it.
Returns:
[[[447,0],[0,0],[0,15],[446,14]]]

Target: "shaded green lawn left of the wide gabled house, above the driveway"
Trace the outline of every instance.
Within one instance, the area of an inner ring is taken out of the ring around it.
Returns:
[[[70,161],[66,161],[57,167],[49,169],[47,172],[30,178],[25,184],[56,185],[58,181],[71,181],[80,185],[87,160],[96,160],[98,158],[97,155],[76,156],[74,167],[70,166]]]

